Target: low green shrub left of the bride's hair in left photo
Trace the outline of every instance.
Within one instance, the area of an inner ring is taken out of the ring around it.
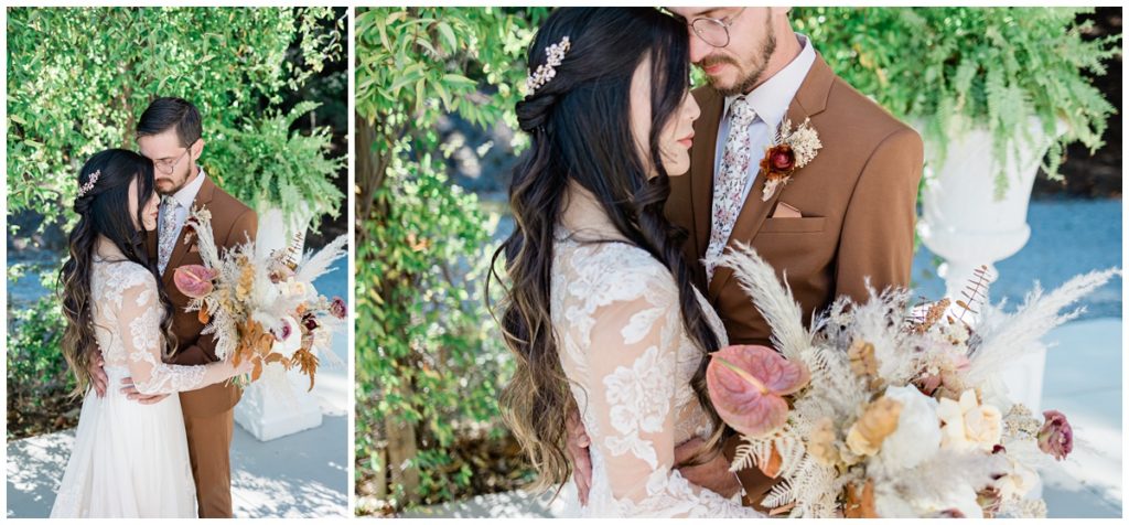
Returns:
[[[59,348],[67,326],[59,300],[49,295],[32,307],[9,312],[8,438],[68,428],[78,419],[70,397],[75,376]]]

